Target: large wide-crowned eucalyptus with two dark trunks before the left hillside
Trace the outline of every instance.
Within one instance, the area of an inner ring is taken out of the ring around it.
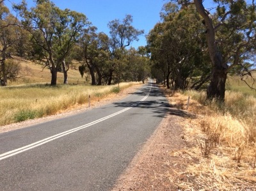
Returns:
[[[57,73],[64,73],[67,83],[68,66],[65,58],[76,43],[79,34],[88,26],[86,16],[68,9],[60,10],[49,0],[36,1],[28,8],[26,1],[15,6],[20,11],[22,26],[29,31],[35,47],[39,50],[39,62],[51,70],[51,85],[57,84]]]

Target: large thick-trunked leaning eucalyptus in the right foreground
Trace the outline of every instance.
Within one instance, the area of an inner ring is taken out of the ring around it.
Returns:
[[[188,4],[195,4],[196,10],[202,17],[207,51],[212,63],[207,98],[216,98],[224,102],[227,73],[234,67],[240,66],[251,75],[246,61],[250,61],[252,52],[255,51],[255,2],[254,0],[214,0],[215,12],[206,10],[202,0],[179,1],[179,3],[182,4],[182,8]]]

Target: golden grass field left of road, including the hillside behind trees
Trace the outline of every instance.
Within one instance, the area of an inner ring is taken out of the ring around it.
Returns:
[[[113,86],[90,86],[90,77],[81,75],[76,66],[68,71],[68,85],[63,84],[63,73],[58,73],[58,85],[50,86],[51,72],[31,61],[16,59],[22,66],[20,78],[0,87],[0,126],[41,118],[67,111],[76,105],[99,100],[115,94],[137,82],[120,83]],[[87,104],[88,105],[88,104]]]

